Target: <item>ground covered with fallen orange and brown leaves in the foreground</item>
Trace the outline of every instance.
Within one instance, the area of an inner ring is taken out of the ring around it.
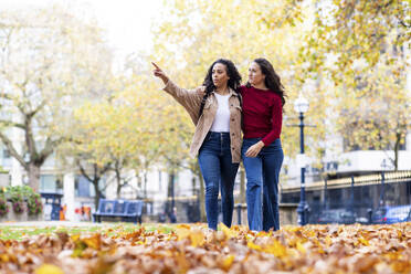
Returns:
[[[1,273],[411,273],[411,223],[0,230]]]

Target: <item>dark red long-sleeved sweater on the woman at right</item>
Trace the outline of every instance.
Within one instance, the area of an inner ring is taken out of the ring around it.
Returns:
[[[270,146],[280,138],[283,123],[281,96],[272,91],[241,86],[244,138],[262,138]]]

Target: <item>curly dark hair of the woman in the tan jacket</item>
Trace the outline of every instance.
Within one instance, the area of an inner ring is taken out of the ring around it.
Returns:
[[[205,86],[205,94],[204,94],[204,96],[202,97],[202,101],[201,101],[199,117],[201,116],[202,110],[204,109],[207,98],[215,89],[215,85],[212,82],[212,67],[217,63],[225,65],[226,74],[230,77],[226,85],[230,88],[232,88],[236,94],[239,94],[240,105],[242,105],[242,101],[241,101],[241,96],[240,96],[240,92],[239,92],[239,87],[240,87],[240,83],[241,83],[241,75],[240,75],[239,71],[236,70],[234,63],[231,60],[219,59],[219,60],[214,61],[214,63],[212,63],[209,71],[207,72],[204,82],[202,83],[202,85]]]

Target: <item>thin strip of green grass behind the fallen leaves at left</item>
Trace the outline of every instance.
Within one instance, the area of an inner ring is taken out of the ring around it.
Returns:
[[[168,224],[144,224],[147,231],[161,231],[162,233],[170,233],[173,229],[172,225]],[[115,235],[117,233],[131,233],[138,229],[140,225],[134,223],[103,223],[103,225],[88,226],[19,226],[19,225],[1,225],[0,224],[0,240],[17,240],[21,241],[27,236],[39,235],[39,234],[53,234],[56,232],[66,232],[70,235],[83,234],[83,233],[104,233],[108,236]]]

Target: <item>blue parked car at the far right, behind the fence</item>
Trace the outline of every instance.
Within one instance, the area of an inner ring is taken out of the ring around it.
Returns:
[[[372,223],[397,223],[411,221],[411,204],[378,208],[371,218]]]

